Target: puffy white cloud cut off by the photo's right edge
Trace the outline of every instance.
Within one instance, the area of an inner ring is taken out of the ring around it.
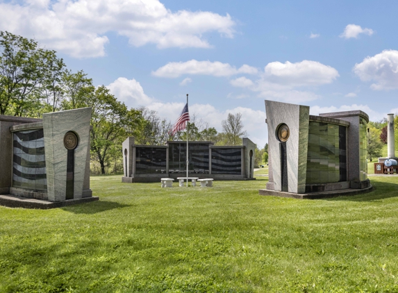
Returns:
[[[398,88],[398,51],[384,50],[375,56],[367,56],[353,69],[361,81],[376,81],[372,90],[392,90]]]

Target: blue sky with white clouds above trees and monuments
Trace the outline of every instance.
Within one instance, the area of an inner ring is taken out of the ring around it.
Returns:
[[[398,112],[397,1],[0,0],[0,30],[34,37],[129,107],[222,131],[242,113],[267,142],[264,100],[311,114]]]

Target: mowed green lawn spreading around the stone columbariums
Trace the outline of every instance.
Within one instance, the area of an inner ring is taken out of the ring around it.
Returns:
[[[256,181],[93,177],[100,201],[0,207],[0,292],[398,292],[398,177],[328,200]]]

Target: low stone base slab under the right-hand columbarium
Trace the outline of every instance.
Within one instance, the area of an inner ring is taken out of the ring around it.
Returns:
[[[279,197],[290,197],[292,199],[329,199],[331,197],[337,197],[337,196],[363,194],[371,192],[372,190],[373,186],[370,185],[370,187],[363,189],[347,188],[345,190],[331,190],[324,192],[307,192],[307,193],[290,193],[290,192],[280,192],[275,190],[258,190],[258,194],[279,196]]]

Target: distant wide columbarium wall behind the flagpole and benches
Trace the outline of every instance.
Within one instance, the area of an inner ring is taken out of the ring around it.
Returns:
[[[188,142],[188,176],[218,180],[254,179],[256,144],[249,138],[240,146],[215,146],[213,142]],[[160,178],[185,177],[186,141],[164,146],[138,145],[134,137],[123,142],[122,182],[160,182]]]

